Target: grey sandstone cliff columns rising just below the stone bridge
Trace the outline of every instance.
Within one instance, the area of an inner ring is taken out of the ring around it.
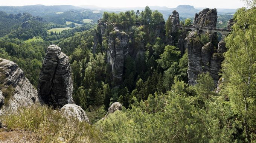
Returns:
[[[214,49],[210,42],[203,46],[196,39],[195,33],[190,32],[184,43],[188,50],[189,85],[197,83],[198,74],[209,72],[217,86],[221,62],[224,60],[222,54],[227,51],[225,42],[219,42],[218,49]]]

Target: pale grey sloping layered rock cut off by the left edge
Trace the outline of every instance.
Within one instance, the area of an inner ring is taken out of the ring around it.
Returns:
[[[0,91],[0,104],[2,104],[2,107],[0,105],[0,115],[8,110],[14,112],[22,106],[43,104],[36,89],[24,76],[23,70],[17,64],[0,58],[0,71],[2,84],[5,86],[2,90],[6,90],[8,86],[13,87],[13,94],[10,97],[5,98],[3,91]]]

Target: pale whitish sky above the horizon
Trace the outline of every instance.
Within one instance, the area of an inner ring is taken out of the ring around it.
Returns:
[[[236,9],[244,6],[241,0],[0,0],[1,6],[24,5],[94,5],[99,7],[145,7],[192,5],[194,7]]]

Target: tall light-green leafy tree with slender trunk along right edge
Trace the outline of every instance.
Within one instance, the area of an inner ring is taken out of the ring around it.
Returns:
[[[224,54],[224,79],[227,81],[225,94],[232,103],[232,110],[238,116],[239,129],[244,133],[244,142],[254,142],[255,135],[255,87],[256,87],[256,9],[239,9],[235,15],[236,24],[225,39],[228,51]]]

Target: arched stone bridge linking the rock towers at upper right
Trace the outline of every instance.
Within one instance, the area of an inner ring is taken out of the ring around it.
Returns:
[[[197,27],[197,26],[184,26],[184,25],[176,25],[176,27],[178,27],[181,30],[185,28],[186,31],[193,31],[200,34],[201,33],[215,34],[219,32],[222,35],[221,39],[224,39],[229,33],[231,33],[231,30],[212,28],[212,27]]]

